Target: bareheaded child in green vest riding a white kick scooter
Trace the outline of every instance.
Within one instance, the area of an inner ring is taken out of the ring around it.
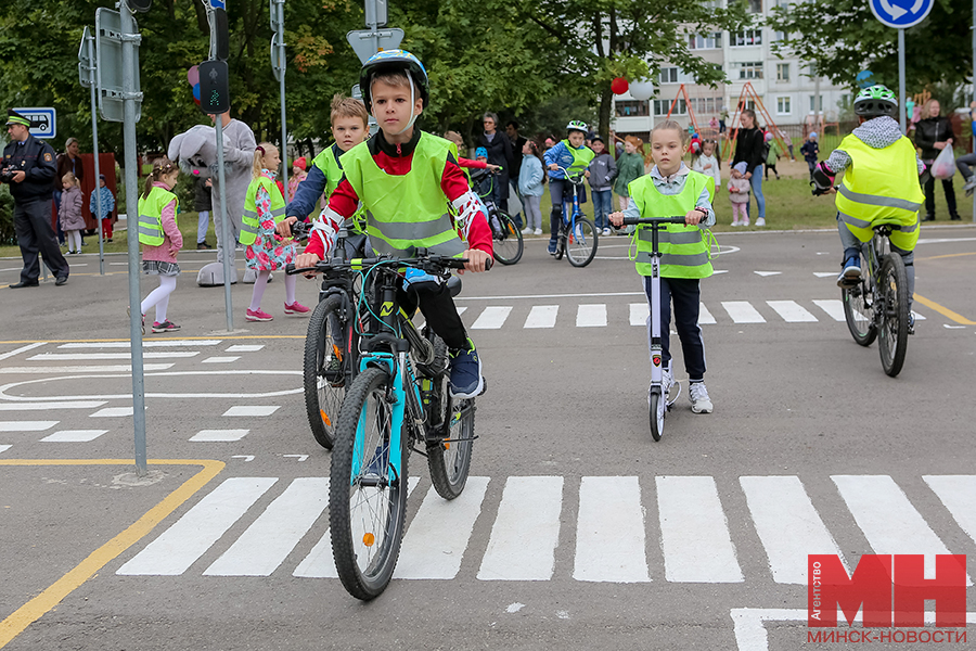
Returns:
[[[677,217],[684,215],[684,225],[669,224],[660,233],[660,333],[663,392],[673,383],[668,333],[671,322],[671,301],[675,302],[675,326],[681,340],[684,368],[689,378],[689,398],[695,413],[711,413],[714,407],[705,387],[705,340],[698,324],[701,288],[698,281],[712,273],[710,247],[705,239],[706,228],[715,225],[715,210],[709,195],[715,179],[692,171],[681,158],[688,151],[688,132],[675,122],[658,124],[651,131],[651,155],[654,167],[628,186],[630,205],[622,213],[611,214],[611,222],[619,228],[624,217]],[[638,227],[637,270],[644,277],[644,292],[651,301],[651,229]],[[651,319],[647,318],[647,339]],[[650,393],[648,393],[650,401]]]

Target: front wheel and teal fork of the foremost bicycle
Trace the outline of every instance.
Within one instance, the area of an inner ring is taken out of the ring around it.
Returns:
[[[335,569],[357,599],[380,596],[393,577],[407,515],[408,443],[390,449],[390,378],[371,368],[352,382],[339,414],[329,483],[329,525]],[[401,436],[407,432],[401,431]],[[399,456],[397,472],[390,464]]]

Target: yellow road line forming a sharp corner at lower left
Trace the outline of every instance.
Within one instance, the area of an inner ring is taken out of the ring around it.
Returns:
[[[110,561],[138,542],[172,513],[180,505],[190,499],[207,482],[223,470],[223,461],[208,459],[153,459],[152,465],[202,465],[200,472],[187,480],[182,486],[170,493],[155,507],[97,550],[78,563],[70,572],[55,580],[51,586],[18,608],[12,615],[0,622],[0,649],[24,631],[44,613],[91,578],[95,572]],[[131,459],[7,459],[0,465],[131,465]]]

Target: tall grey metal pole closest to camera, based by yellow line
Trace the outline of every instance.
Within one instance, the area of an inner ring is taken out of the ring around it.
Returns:
[[[142,366],[142,309],[139,293],[139,176],[136,174],[136,22],[125,0],[119,8],[123,33],[123,135],[126,159],[126,231],[129,244],[129,331],[132,340],[132,420],[136,427],[136,474],[144,476],[145,381]]]

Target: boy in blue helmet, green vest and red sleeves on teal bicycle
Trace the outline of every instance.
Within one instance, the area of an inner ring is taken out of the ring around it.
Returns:
[[[351,217],[361,201],[368,210],[367,233],[377,253],[411,257],[418,248],[426,248],[466,257],[465,269],[485,271],[492,252],[491,231],[458,166],[457,149],[413,126],[429,95],[423,64],[404,50],[380,52],[362,66],[359,87],[380,132],[342,156],[343,179],[316,220],[296,266],[321,260],[334,245],[343,219]],[[448,212],[448,203],[457,217]],[[447,344],[451,395],[477,396],[484,390],[480,358],[449,289],[433,277],[411,281],[416,298],[401,290],[398,299],[404,307],[418,305]]]

